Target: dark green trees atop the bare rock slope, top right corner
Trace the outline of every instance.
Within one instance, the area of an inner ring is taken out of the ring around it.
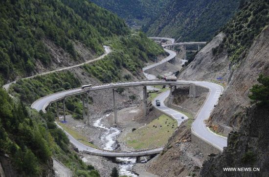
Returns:
[[[253,40],[269,24],[269,0],[241,0],[241,10],[222,29],[224,41],[212,53],[217,55],[224,49],[235,63],[244,59]]]

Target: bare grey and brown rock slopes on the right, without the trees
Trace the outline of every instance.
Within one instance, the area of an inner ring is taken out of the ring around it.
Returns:
[[[227,135],[238,130],[242,115],[250,100],[249,89],[257,83],[260,73],[269,74],[269,27],[265,28],[253,42],[247,57],[240,63],[230,66],[224,51],[218,56],[212,55],[212,48],[218,46],[224,35],[219,34],[209,42],[196,56],[194,61],[180,74],[180,78],[216,80],[223,77],[227,86],[223,97],[209,119],[210,126]]]

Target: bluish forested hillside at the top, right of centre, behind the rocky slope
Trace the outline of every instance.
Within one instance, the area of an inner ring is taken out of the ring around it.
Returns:
[[[239,0],[170,0],[143,31],[176,41],[208,41],[234,16],[238,6]]]

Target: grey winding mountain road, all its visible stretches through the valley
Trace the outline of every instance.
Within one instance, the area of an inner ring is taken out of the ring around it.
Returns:
[[[172,43],[173,43],[173,40],[172,40]],[[102,59],[104,56],[106,56],[110,53],[109,47],[105,47],[105,49],[106,49],[106,53],[97,59]],[[147,78],[154,79],[154,76],[145,73],[146,70],[154,68],[159,64],[165,63],[165,62],[173,59],[176,56],[176,52],[174,52],[174,51],[171,51],[168,49],[165,49],[165,51],[169,54],[169,56],[167,58],[163,59],[162,61],[160,61],[158,63],[155,63],[153,65],[150,65],[150,66],[143,68],[143,72]],[[85,63],[93,62],[97,59],[90,60],[90,61],[85,62]],[[56,71],[62,71],[65,69],[70,69],[73,67],[81,66],[85,63],[81,63],[81,64],[76,65],[76,66],[71,66],[71,67],[59,69]],[[56,71],[42,73],[39,75],[45,75],[45,74],[56,72]],[[32,78],[32,77],[29,77],[29,78]],[[196,116],[196,120],[194,121],[194,123],[192,125],[192,132],[194,132],[199,137],[201,137],[202,139],[204,139],[205,141],[209,142],[210,144],[212,144],[213,146],[218,148],[220,151],[222,151],[223,147],[227,145],[226,138],[220,137],[220,136],[214,134],[213,132],[209,131],[206,128],[205,123],[203,122],[205,119],[209,118],[211,111],[214,109],[214,105],[218,103],[218,98],[220,97],[220,95],[223,91],[222,86],[217,85],[215,83],[211,83],[211,82],[196,81],[196,80],[178,80],[176,82],[166,82],[166,81],[160,81],[160,80],[140,80],[140,81],[133,81],[133,82],[119,82],[119,83],[114,83],[114,84],[98,85],[98,86],[93,86],[89,89],[75,88],[75,89],[66,90],[63,92],[51,94],[51,95],[45,96],[43,98],[40,98],[40,99],[36,100],[31,105],[31,108],[36,109],[38,111],[43,110],[43,112],[45,112],[45,108],[53,102],[59,101],[63,98],[67,98],[67,97],[85,94],[85,93],[90,92],[92,90],[112,89],[112,88],[119,88],[119,87],[154,86],[154,85],[169,85],[169,86],[173,86],[173,85],[179,85],[179,86],[181,85],[182,86],[183,85],[183,86],[186,86],[186,85],[190,85],[190,84],[196,84],[196,85],[203,86],[203,87],[206,87],[209,89],[209,94],[208,94],[205,102],[203,103],[200,111],[198,112],[198,114]],[[8,88],[9,85],[10,85],[10,83],[5,85],[4,87]],[[179,113],[178,111],[175,111],[173,109],[166,107],[163,104],[163,101],[165,100],[165,98],[167,98],[169,96],[169,94],[170,94],[169,92],[170,91],[164,92],[156,98],[156,99],[161,100],[161,102],[162,102],[161,106],[159,106],[159,107],[156,106],[156,108],[159,109],[160,111],[162,111],[164,114],[175,118],[178,121],[178,125],[180,125],[180,123],[184,119],[187,119],[187,117],[185,115]],[[153,102],[153,105],[155,106],[154,102]],[[184,116],[184,118],[181,118],[182,116]],[[66,132],[66,134],[67,134],[70,142],[72,144],[74,144],[80,151],[85,151],[89,154],[97,155],[97,156],[137,157],[137,156],[157,154],[157,153],[160,153],[163,149],[163,147],[160,147],[157,149],[134,151],[131,153],[124,152],[124,151],[119,151],[119,152],[118,151],[107,151],[107,150],[96,149],[96,148],[92,148],[90,146],[87,146],[87,145],[77,141],[75,138],[70,136],[67,132]]]

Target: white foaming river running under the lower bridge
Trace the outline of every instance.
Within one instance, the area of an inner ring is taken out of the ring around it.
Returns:
[[[121,131],[115,127],[106,127],[104,124],[101,123],[103,118],[107,118],[110,114],[105,115],[102,118],[99,118],[94,121],[93,126],[105,129],[106,132],[102,135],[101,140],[105,142],[105,150],[114,150],[116,147],[116,137],[121,133]],[[117,157],[116,160],[119,162],[119,175],[127,175],[128,177],[137,177],[137,175],[131,172],[136,158],[134,157]]]

